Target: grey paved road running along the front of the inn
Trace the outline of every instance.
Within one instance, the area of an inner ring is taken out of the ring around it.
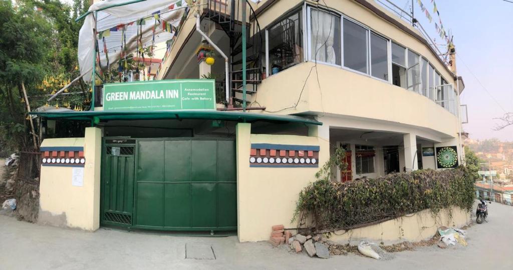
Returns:
[[[0,216],[0,269],[513,269],[513,207],[491,204],[489,222],[468,229],[467,247],[436,246],[376,261],[289,254],[236,237],[180,237],[41,226]],[[210,244],[215,260],[185,259],[185,245]]]

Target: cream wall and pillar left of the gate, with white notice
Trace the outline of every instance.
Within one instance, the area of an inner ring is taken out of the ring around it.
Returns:
[[[45,139],[41,147],[83,146],[84,186],[72,186],[72,167],[42,166],[40,214],[43,224],[95,230],[100,226],[101,129],[86,128],[85,138]]]

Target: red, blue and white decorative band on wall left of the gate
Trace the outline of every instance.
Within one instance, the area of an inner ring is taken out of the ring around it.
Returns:
[[[41,147],[42,166],[84,167],[84,147]]]

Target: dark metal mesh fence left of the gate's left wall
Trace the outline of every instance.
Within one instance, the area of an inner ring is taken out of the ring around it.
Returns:
[[[38,186],[41,175],[41,152],[21,151],[19,153],[17,180]]]

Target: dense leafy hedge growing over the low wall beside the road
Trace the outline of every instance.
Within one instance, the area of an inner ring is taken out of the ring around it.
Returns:
[[[450,206],[470,210],[474,199],[473,176],[463,166],[344,183],[322,178],[301,191],[294,219],[311,215],[317,230],[351,228],[424,209],[433,214]]]

